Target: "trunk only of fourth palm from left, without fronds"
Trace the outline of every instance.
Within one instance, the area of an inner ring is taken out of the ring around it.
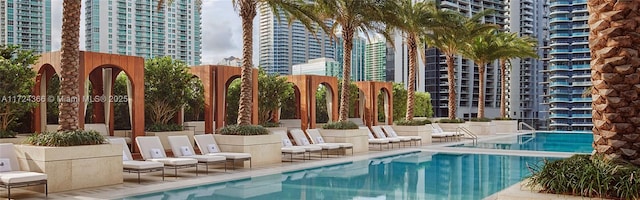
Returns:
[[[407,85],[407,114],[405,119],[413,120],[413,109],[416,101],[416,62],[418,61],[418,46],[416,37],[413,34],[408,34],[407,48],[409,50],[409,85]]]

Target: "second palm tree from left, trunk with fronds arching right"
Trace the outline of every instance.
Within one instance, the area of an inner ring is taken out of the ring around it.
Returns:
[[[308,30],[314,31],[313,21],[320,21],[317,17],[300,10],[305,4],[302,0],[233,0],[236,10],[242,19],[242,72],[240,75],[240,106],[238,108],[238,125],[251,124],[251,104],[252,104],[252,77],[253,68],[253,19],[256,17],[259,5],[271,8],[271,12],[276,15],[283,15],[278,18],[286,18],[291,22],[293,19],[301,21]],[[257,89],[257,88],[255,88]]]

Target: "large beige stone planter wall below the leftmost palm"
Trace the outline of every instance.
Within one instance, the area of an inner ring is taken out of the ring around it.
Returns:
[[[15,147],[22,169],[47,174],[49,192],[122,184],[119,144]]]

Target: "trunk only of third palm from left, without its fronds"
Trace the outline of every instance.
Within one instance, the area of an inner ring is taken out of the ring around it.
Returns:
[[[349,119],[349,85],[351,84],[351,49],[353,47],[354,29],[345,26],[342,28],[342,37],[344,38],[344,53],[342,60],[342,94],[340,94],[340,117],[338,121],[347,121]],[[362,111],[361,111],[362,112]]]

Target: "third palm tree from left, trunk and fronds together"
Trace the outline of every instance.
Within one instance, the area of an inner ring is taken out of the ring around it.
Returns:
[[[335,30],[342,29],[344,37],[344,57],[342,70],[342,93],[340,95],[340,117],[338,121],[347,121],[349,114],[349,85],[351,82],[351,50],[353,47],[353,36],[358,32],[364,33],[369,38],[371,31],[381,32],[385,38],[390,40],[388,32],[382,31],[384,28],[381,22],[384,21],[386,6],[391,1],[379,0],[331,0],[315,1],[313,4],[306,4],[305,12],[317,16],[320,20],[331,20],[333,25],[326,27],[319,23],[325,32],[335,37]],[[317,19],[316,19],[317,20]]]

